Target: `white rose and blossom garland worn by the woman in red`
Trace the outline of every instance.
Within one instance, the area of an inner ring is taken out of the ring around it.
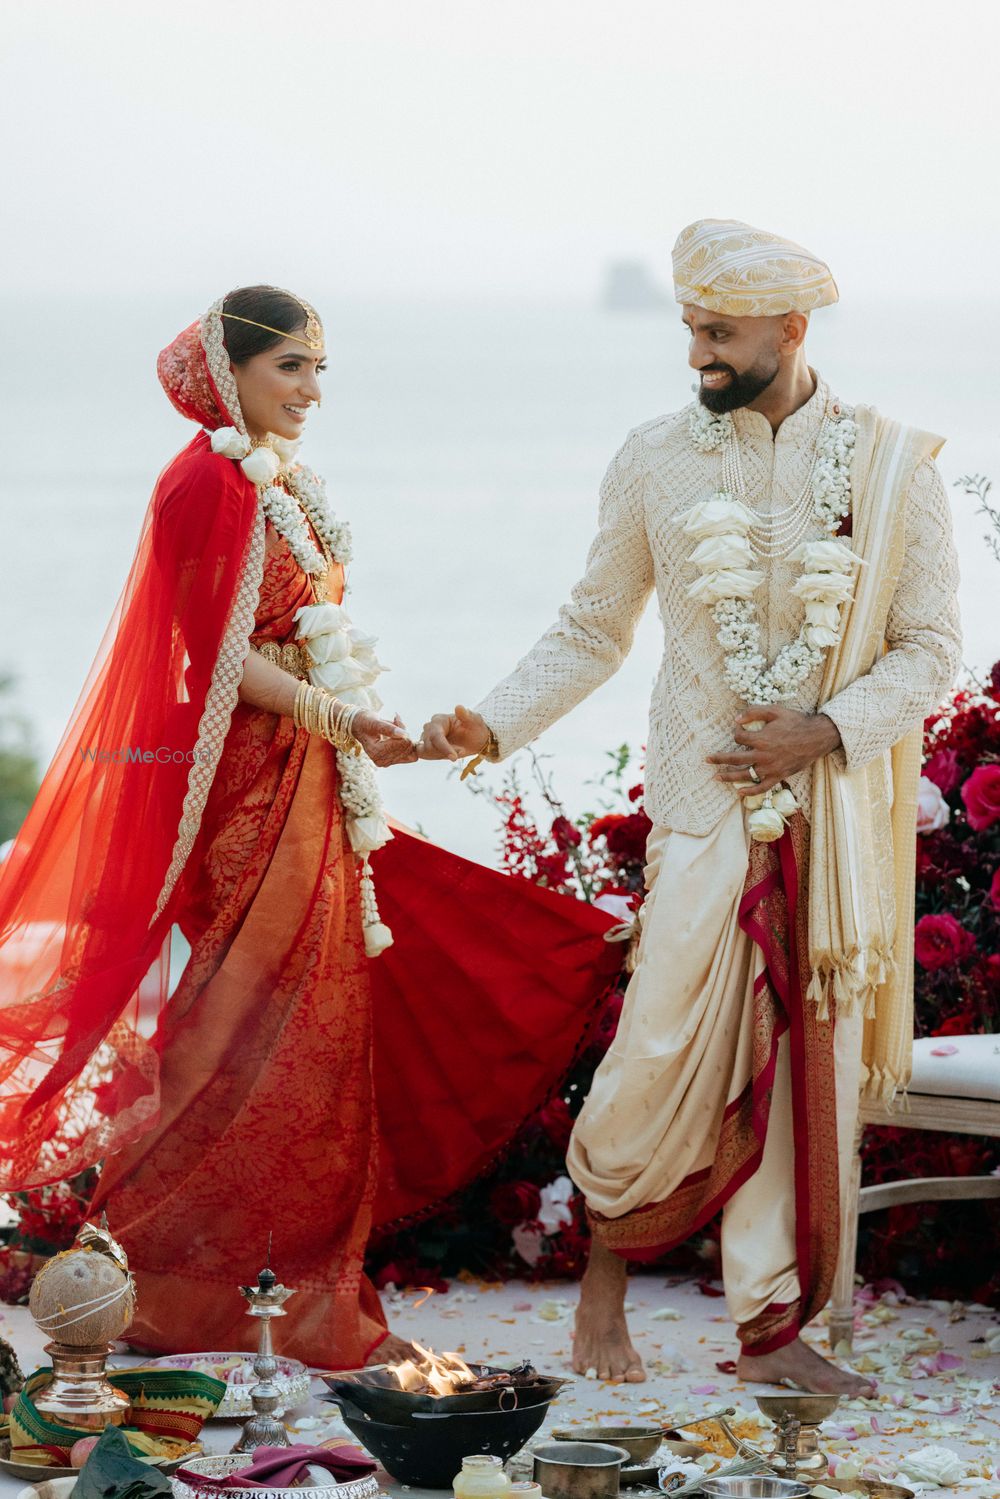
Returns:
[[[256,486],[267,520],[285,538],[300,568],[316,576],[325,570],[327,562],[313,544],[306,520],[312,522],[334,562],[342,564],[351,561],[351,528],[333,514],[322,478],[304,463],[295,462],[297,447],[297,442],[271,436],[267,447],[253,448],[237,427],[219,427],[211,433],[211,451],[240,463]],[[282,484],[276,483],[279,475]],[[385,667],[375,655],[375,637],[358,630],[340,604],[310,604],[298,610],[295,622],[297,639],[307,646],[313,663],[309,681],[336,693],[343,703],[376,714],[382,700],[375,691],[375,681]],[[369,854],[393,835],[369,757],[337,750],[337,770],[340,800],[348,814],[348,836],[361,860],[364,944],[369,956],[376,956],[388,947],[393,937],[378,916]]]

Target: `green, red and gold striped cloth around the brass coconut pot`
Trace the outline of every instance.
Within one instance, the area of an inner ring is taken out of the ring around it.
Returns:
[[[34,1397],[51,1378],[51,1369],[28,1375],[6,1421],[10,1457],[18,1463],[67,1468],[73,1442],[93,1436],[39,1414]],[[130,1400],[129,1420],[118,1430],[135,1457],[183,1457],[226,1393],[222,1379],[190,1369],[115,1369],[108,1373],[108,1384]]]

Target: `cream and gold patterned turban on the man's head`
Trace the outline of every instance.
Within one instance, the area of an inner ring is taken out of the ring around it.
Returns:
[[[699,219],[681,229],[673,291],[678,301],[726,318],[813,312],[838,295],[829,265],[816,255],[738,219]]]

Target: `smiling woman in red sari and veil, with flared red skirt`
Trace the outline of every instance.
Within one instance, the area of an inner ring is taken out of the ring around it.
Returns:
[[[234,291],[157,370],[199,430],[0,866],[0,1187],[103,1160],[139,1348],[252,1346],[235,1288],[270,1246],[283,1354],[406,1357],[369,1237],[558,1085],[613,976],[607,917],[390,829],[373,764],[415,750],[343,609],[349,529],[295,453],[312,307]]]

